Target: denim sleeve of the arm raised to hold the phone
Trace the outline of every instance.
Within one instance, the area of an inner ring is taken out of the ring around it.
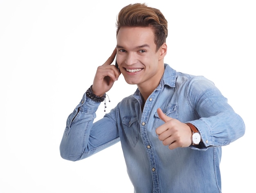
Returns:
[[[62,158],[81,160],[119,141],[116,121],[110,116],[93,123],[98,106],[99,102],[84,94],[81,103],[68,116],[60,145]]]

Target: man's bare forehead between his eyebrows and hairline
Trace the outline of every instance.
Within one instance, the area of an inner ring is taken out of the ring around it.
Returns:
[[[121,27],[117,34],[117,46],[138,47],[148,45],[155,47],[153,29],[150,27]]]

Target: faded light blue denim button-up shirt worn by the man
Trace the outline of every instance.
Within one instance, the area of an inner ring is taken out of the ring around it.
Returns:
[[[67,118],[61,156],[87,158],[121,141],[136,193],[220,193],[221,146],[243,136],[245,125],[214,84],[202,76],[176,72],[165,64],[159,86],[145,102],[139,90],[93,123],[99,102],[86,94]],[[155,129],[164,122],[157,108],[200,132],[199,145],[164,146]]]

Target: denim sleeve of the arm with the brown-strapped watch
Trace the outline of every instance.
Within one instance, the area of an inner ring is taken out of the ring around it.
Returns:
[[[201,134],[203,145],[200,148],[228,145],[244,135],[243,119],[211,81],[197,77],[187,88],[191,105],[201,117],[189,121]]]

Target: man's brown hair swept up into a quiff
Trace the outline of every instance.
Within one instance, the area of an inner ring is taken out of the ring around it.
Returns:
[[[152,27],[155,34],[155,44],[157,50],[166,42],[168,35],[167,20],[164,15],[152,7],[146,6],[146,4],[129,4],[118,14],[117,17],[117,34],[121,27]],[[157,51],[156,50],[156,51]]]

